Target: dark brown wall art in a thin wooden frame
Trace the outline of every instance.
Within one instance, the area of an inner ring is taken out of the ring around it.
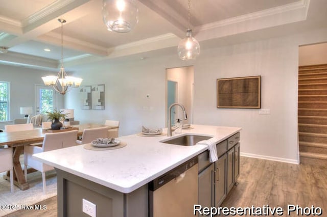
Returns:
[[[217,79],[217,108],[261,108],[261,76]]]

